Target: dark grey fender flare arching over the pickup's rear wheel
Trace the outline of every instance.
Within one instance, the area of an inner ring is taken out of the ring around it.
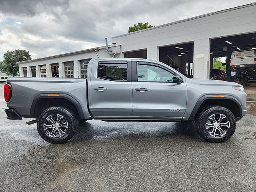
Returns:
[[[36,110],[36,104],[40,99],[42,99],[42,98],[62,98],[62,99],[66,99],[69,102],[71,102],[72,104],[74,104],[74,106],[76,107],[76,109],[78,111],[80,119],[85,119],[84,112],[82,110],[82,106],[75,98],[73,98],[72,96],[70,96],[66,93],[58,93],[58,94],[60,94],[60,96],[48,96],[48,94],[56,94],[56,92],[40,93],[35,96],[35,98],[32,102],[32,105],[30,107],[30,118],[36,118],[34,116],[35,110]]]

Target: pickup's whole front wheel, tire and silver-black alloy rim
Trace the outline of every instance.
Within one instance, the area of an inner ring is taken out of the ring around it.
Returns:
[[[199,136],[207,142],[220,143],[228,140],[234,134],[236,118],[225,107],[210,106],[200,111],[195,128]]]

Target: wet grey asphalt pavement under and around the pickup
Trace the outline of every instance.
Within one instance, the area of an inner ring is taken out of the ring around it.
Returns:
[[[4,107],[0,91],[1,192],[256,191],[256,102],[220,144],[190,123],[92,120],[53,145],[28,119],[7,120]]]

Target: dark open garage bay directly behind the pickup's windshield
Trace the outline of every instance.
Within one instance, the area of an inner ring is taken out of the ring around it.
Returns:
[[[193,78],[193,51],[193,42],[159,47],[159,61]]]

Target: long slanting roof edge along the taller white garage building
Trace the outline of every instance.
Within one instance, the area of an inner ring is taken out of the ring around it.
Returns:
[[[114,37],[112,37],[112,39],[122,37],[122,36],[131,35],[131,34],[136,34],[136,33],[140,33],[140,32],[144,32],[144,31],[147,31],[147,30],[152,30],[152,29],[156,29],[156,28],[160,28],[160,27],[165,27],[165,26],[168,26],[168,25],[173,25],[173,24],[177,24],[177,23],[181,23],[181,22],[186,22],[186,21],[190,21],[190,20],[194,20],[194,19],[197,19],[197,18],[202,18],[202,17],[214,15],[214,14],[219,14],[219,13],[223,13],[223,12],[227,12],[227,11],[231,11],[231,10],[236,10],[236,9],[240,9],[240,8],[244,8],[244,7],[248,7],[248,6],[254,6],[254,5],[256,5],[256,2],[241,5],[241,6],[236,6],[236,7],[216,11],[216,12],[211,12],[211,13],[207,13],[207,14],[203,14],[203,15],[199,15],[199,16],[195,16],[195,17],[191,17],[191,18],[187,18],[187,19],[182,19],[182,20],[170,22],[170,23],[167,23],[167,24],[163,24],[163,25],[159,25],[159,26],[155,26],[155,27],[151,27],[151,28],[147,28],[147,29],[143,29],[143,30],[138,30],[138,31],[134,31],[134,32],[118,35],[118,36],[114,36]]]

